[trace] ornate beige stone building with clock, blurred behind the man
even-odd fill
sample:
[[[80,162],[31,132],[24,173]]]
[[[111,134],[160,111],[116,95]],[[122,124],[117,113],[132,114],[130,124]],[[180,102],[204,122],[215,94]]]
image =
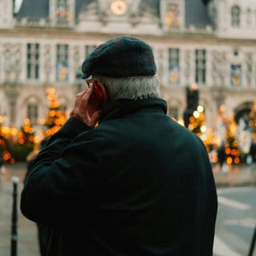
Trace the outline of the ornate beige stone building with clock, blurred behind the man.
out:
[[[0,115],[36,124],[54,86],[68,112],[84,86],[81,64],[120,34],[153,47],[168,113],[182,119],[186,87],[197,84],[206,126],[218,107],[238,119],[256,96],[255,0],[0,1]]]

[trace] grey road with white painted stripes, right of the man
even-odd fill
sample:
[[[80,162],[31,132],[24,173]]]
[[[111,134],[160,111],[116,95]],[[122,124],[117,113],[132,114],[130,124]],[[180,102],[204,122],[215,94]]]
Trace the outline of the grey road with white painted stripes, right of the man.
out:
[[[214,256],[247,256],[256,224],[256,186],[226,186],[217,191]]]

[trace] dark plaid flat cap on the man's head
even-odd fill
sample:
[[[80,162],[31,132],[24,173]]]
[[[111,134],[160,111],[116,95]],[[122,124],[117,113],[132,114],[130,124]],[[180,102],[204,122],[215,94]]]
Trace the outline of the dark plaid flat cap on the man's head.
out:
[[[150,45],[130,36],[111,38],[95,48],[82,63],[82,78],[99,74],[111,78],[156,73]]]

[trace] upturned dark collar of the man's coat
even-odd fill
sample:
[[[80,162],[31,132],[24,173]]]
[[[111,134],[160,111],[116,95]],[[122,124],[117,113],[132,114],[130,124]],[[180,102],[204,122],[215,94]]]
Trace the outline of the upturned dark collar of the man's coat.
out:
[[[120,99],[114,103],[111,110],[104,115],[102,122],[114,118],[121,118],[127,114],[131,114],[141,109],[162,109],[164,114],[167,113],[166,101],[162,98],[146,98],[138,100]]]

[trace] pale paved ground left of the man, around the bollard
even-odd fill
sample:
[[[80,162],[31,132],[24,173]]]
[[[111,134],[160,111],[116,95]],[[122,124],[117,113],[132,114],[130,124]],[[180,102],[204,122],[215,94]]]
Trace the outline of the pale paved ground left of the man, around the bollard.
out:
[[[22,182],[26,171],[25,164],[6,166],[0,173],[0,255],[10,256],[11,213],[13,204],[12,177],[18,177],[18,203]],[[18,206],[18,256],[39,256],[37,229],[34,222],[27,220]]]

